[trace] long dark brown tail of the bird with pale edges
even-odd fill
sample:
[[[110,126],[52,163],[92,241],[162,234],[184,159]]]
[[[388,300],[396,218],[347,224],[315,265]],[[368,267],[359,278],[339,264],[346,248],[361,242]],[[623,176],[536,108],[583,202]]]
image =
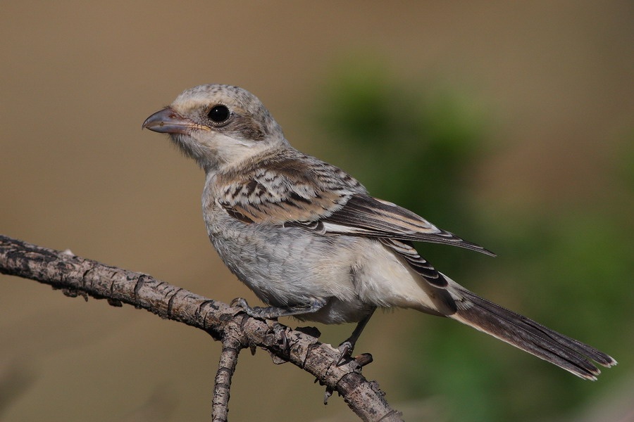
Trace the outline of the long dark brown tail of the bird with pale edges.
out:
[[[520,314],[504,309],[468,290],[461,290],[464,302],[450,317],[468,326],[493,335],[530,354],[560,366],[580,378],[595,381],[602,366],[616,365],[616,361],[594,347],[566,337]]]

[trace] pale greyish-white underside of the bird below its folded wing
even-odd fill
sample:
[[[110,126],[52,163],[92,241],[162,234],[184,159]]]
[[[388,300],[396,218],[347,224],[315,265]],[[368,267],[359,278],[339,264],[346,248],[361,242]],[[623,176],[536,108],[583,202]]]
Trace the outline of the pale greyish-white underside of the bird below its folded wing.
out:
[[[436,308],[428,284],[373,239],[244,224],[224,212],[208,213],[206,225],[223,262],[266,304],[325,300],[301,319],[338,324],[359,321],[375,307]]]

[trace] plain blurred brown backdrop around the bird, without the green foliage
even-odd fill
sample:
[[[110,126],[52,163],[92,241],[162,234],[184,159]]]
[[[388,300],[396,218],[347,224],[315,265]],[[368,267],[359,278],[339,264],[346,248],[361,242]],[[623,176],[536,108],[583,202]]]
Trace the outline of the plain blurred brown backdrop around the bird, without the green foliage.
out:
[[[471,87],[493,110],[499,147],[476,176],[490,212],[583,207],[608,187],[604,159],[622,146],[606,134],[634,117],[633,11],[629,1],[5,2],[0,232],[255,301],[206,238],[203,174],[141,123],[195,84],[237,84],[316,154],[314,98],[350,53],[380,57],[404,79]],[[209,418],[219,346],[204,333],[32,281],[0,283],[0,376],[17,395],[5,421]],[[376,361],[366,375],[400,408],[416,404],[399,404],[390,369],[406,364],[398,338],[418,317],[378,314],[359,343]],[[336,343],[352,326],[321,328]],[[632,373],[627,365],[619,371]],[[337,397],[324,408],[312,381],[244,353],[232,420],[348,416]]]

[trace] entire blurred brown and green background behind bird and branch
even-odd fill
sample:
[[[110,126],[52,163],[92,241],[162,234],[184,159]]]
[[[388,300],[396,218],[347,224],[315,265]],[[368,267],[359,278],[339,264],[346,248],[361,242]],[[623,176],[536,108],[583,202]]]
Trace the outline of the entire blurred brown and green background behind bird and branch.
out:
[[[295,147],[499,255],[418,245],[437,268],[620,362],[591,383],[379,312],[356,351],[406,420],[634,421],[633,43],[631,1],[5,2],[0,233],[256,303],[206,238],[201,170],[141,131],[184,89],[237,84]],[[0,420],[209,419],[209,335],[0,282]],[[231,392],[232,421],[355,420],[261,350]]]

